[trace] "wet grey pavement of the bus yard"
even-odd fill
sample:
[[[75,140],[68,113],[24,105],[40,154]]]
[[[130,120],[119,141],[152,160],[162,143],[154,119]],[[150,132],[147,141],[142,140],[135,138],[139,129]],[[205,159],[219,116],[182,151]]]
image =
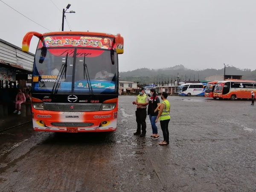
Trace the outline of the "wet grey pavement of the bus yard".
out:
[[[0,191],[256,191],[256,107],[169,96],[169,146],[136,131],[135,96],[119,97],[112,133],[0,133]],[[159,122],[160,139],[163,138]]]

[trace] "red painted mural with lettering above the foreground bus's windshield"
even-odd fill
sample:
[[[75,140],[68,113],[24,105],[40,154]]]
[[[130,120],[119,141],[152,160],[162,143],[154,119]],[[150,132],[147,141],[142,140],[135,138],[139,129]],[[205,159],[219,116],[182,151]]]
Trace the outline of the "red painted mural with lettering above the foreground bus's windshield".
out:
[[[87,36],[48,36],[44,37],[38,48],[41,47],[90,47],[110,49],[113,47],[113,38]]]

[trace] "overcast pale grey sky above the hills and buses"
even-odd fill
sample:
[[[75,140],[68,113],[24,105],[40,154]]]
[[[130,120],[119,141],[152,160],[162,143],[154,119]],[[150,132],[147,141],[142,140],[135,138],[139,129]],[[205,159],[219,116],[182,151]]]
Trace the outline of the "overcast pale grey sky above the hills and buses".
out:
[[[68,3],[76,11],[66,14],[72,31],[124,37],[120,71],[178,64],[221,69],[223,63],[256,69],[256,0],[0,0],[0,38],[21,47],[26,32],[61,30]],[[65,21],[64,30],[70,28]],[[37,43],[33,38],[30,52]]]

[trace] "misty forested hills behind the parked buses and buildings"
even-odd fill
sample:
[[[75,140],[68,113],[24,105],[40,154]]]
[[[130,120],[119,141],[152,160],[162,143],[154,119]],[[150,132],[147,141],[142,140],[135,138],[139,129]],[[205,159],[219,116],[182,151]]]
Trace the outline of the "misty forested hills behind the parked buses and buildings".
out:
[[[224,75],[223,69],[204,69],[204,70],[191,70],[185,68],[183,65],[175,65],[174,67],[167,67],[162,69],[148,69],[140,68],[127,72],[120,72],[120,81],[137,81],[140,83],[148,84],[159,81],[175,81],[179,73],[181,81],[204,81],[205,77],[212,75]],[[226,75],[240,75],[242,79],[256,80],[256,70],[239,69],[236,67],[226,67]]]

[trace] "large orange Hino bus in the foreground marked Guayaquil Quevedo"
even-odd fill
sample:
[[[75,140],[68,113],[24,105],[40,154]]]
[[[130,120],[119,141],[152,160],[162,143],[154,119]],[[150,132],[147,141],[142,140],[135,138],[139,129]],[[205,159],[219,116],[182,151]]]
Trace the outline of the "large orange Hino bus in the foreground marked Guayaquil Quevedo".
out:
[[[96,32],[28,32],[39,38],[32,72],[35,131],[115,131],[123,38]]]

